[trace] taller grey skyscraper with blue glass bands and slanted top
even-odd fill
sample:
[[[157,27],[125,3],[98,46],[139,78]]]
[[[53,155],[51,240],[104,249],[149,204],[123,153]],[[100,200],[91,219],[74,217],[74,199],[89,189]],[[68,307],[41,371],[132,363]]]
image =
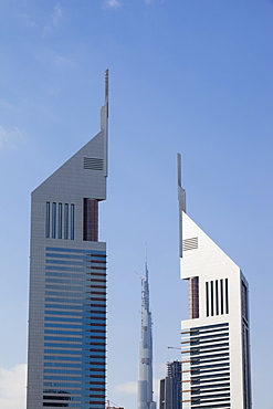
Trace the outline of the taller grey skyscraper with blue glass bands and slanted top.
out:
[[[28,409],[105,408],[108,72],[101,132],[31,198]]]

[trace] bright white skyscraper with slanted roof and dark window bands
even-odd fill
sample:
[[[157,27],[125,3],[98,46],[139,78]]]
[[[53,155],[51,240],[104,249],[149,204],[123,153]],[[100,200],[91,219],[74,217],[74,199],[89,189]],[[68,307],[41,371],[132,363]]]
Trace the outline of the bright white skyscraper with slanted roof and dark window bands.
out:
[[[249,285],[240,268],[188,217],[178,156],[182,321],[182,408],[250,409]]]

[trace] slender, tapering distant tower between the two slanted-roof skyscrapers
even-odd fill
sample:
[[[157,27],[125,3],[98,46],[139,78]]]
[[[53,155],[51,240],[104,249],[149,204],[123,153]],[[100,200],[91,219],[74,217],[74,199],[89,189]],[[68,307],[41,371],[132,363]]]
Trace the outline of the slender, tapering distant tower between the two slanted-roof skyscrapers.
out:
[[[141,279],[141,339],[139,343],[138,409],[156,409],[153,400],[153,335],[149,310],[149,281],[147,261],[145,277]]]

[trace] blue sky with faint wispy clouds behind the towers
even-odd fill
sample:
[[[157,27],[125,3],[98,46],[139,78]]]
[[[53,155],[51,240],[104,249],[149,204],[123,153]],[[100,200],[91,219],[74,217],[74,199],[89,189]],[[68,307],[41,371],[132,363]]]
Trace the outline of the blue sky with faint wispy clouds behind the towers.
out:
[[[136,408],[148,248],[155,390],[179,359],[176,155],[189,216],[251,290],[255,409],[272,409],[270,0],[0,0],[0,407],[23,409],[30,192],[99,129],[109,69],[108,399]]]

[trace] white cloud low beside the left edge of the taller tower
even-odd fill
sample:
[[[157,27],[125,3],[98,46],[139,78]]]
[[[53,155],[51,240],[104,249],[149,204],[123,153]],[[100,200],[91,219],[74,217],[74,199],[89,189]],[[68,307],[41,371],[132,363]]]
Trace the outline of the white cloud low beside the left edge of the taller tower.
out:
[[[12,369],[0,368],[0,408],[24,409],[27,396],[27,364]]]

